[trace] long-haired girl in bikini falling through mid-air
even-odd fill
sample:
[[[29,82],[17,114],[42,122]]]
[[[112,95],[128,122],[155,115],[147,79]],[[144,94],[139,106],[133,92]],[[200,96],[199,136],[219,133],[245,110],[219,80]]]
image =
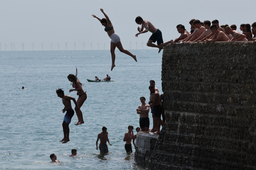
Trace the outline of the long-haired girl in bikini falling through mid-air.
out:
[[[76,95],[78,95],[78,99],[76,101],[77,106],[79,108],[82,107],[82,105],[84,104],[84,101],[87,99],[87,95],[86,92],[84,92],[83,88],[82,88],[82,83],[80,83],[80,81],[78,80],[77,76],[77,69],[76,69],[76,75],[74,74],[69,74],[68,75],[68,80],[70,82],[72,82],[72,87],[75,89],[70,89],[69,92],[71,91],[77,91]],[[76,110],[76,108],[75,108]],[[76,116],[78,118],[78,122],[75,125],[78,124],[83,124],[84,123],[84,119],[83,119],[83,114],[81,110],[76,111]]]

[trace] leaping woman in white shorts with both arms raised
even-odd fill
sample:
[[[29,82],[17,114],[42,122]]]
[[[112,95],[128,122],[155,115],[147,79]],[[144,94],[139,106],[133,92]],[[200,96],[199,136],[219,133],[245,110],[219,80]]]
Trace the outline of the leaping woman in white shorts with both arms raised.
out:
[[[108,36],[111,39],[111,43],[110,43],[110,52],[111,52],[111,58],[112,58],[112,66],[111,66],[111,71],[113,70],[113,68],[116,66],[115,65],[115,60],[116,60],[116,54],[115,54],[115,49],[116,47],[122,52],[125,53],[127,55],[130,55],[136,62],[136,55],[133,55],[132,53],[130,53],[128,50],[125,50],[121,44],[120,41],[120,37],[117,35],[117,33],[115,33],[114,31],[114,27],[110,21],[110,19],[108,18],[107,14],[105,14],[105,12],[103,11],[103,9],[100,8],[100,11],[104,14],[104,16],[106,18],[98,18],[95,15],[92,15],[92,17],[97,18],[101,25],[105,26],[105,31],[108,33]]]

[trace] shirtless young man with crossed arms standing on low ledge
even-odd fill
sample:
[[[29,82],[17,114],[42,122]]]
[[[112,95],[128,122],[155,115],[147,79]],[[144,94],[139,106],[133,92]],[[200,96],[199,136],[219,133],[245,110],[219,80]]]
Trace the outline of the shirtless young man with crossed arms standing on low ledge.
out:
[[[146,98],[140,97],[141,105],[136,109],[137,114],[140,114],[140,128],[141,131],[148,131],[149,129],[149,105],[145,103]]]

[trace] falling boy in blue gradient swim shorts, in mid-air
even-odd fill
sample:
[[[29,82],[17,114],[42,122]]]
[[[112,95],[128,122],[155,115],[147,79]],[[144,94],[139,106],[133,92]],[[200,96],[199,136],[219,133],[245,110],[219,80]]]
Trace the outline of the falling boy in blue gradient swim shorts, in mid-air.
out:
[[[71,106],[71,100],[73,100],[73,102],[76,105],[76,107],[75,107],[76,111],[80,111],[80,108],[77,106],[76,99],[74,97],[64,95],[64,91],[62,89],[56,90],[56,93],[57,93],[58,97],[62,98],[62,103],[65,106],[64,109],[62,109],[62,113],[65,113],[65,111],[67,111],[66,115],[64,116],[63,123],[62,123],[64,138],[60,140],[60,142],[65,144],[69,141],[68,125],[71,122],[71,118],[74,116],[74,110],[72,109],[72,106]]]

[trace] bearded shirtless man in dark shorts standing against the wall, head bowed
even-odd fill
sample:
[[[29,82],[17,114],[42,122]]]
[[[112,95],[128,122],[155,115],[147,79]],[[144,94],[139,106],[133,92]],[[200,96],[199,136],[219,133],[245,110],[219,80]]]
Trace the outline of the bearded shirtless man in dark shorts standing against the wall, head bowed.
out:
[[[154,133],[160,133],[160,126],[161,126],[161,114],[162,114],[162,105],[161,105],[161,98],[158,91],[155,90],[154,86],[148,87],[151,94],[153,94],[153,102],[150,104],[150,107],[154,110],[155,118],[156,118],[156,128],[157,131]]]

